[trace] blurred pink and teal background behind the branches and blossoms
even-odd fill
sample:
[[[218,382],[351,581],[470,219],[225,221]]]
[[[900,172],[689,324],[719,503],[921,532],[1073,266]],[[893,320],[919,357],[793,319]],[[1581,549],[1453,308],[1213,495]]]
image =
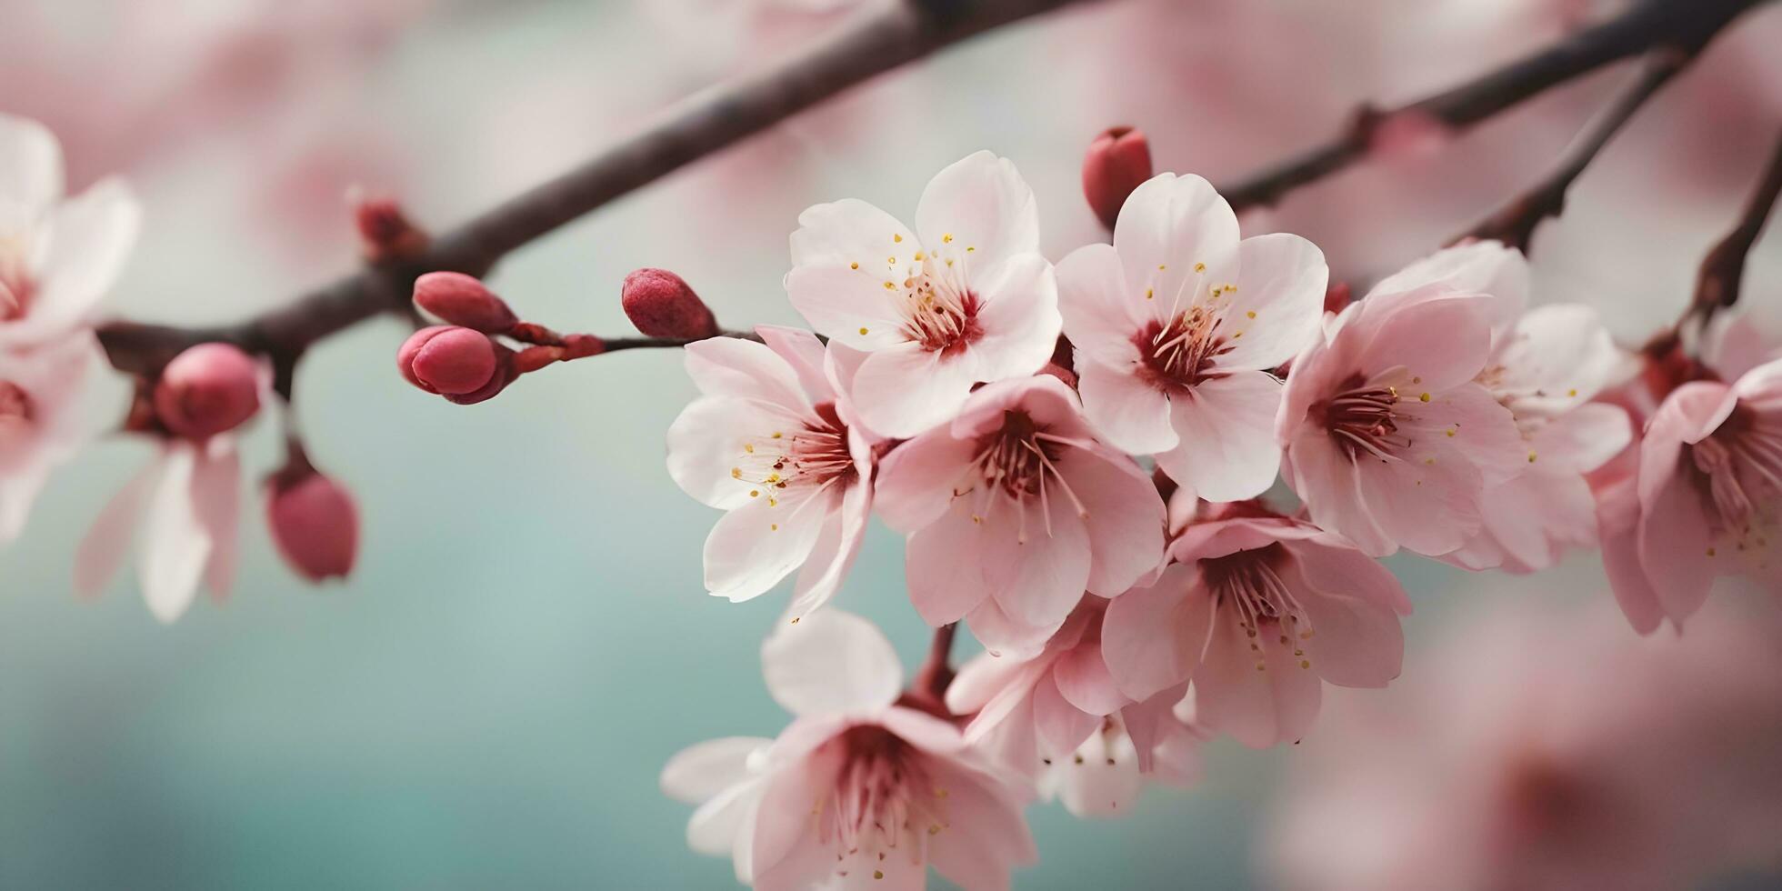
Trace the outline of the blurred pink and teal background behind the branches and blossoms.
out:
[[[144,235],[110,310],[228,321],[351,267],[353,185],[446,228],[866,5],[0,0],[0,110],[59,134],[73,187],[123,173],[139,189]],[[1358,102],[1452,86],[1618,7],[1091,4],[873,80],[490,282],[529,319],[622,333],[618,282],[661,266],[731,326],[795,324],[779,283],[811,203],[911,214],[934,171],[989,148],[1034,185],[1059,258],[1101,237],[1078,166],[1105,127],[1144,128],[1158,169],[1230,180],[1328,137]],[[1604,151],[1536,235],[1538,301],[1595,305],[1629,342],[1677,315],[1782,128],[1777,46],[1782,9],[1750,14]],[[1313,239],[1360,292],[1541,176],[1629,75],[1406,146],[1246,228]],[[1777,228],[1745,294],[1782,331]],[[757,647],[784,601],[700,586],[716,513],[663,467],[693,392],[679,356],[581,362],[458,408],[399,380],[403,335],[358,326],[298,376],[310,456],[364,511],[347,584],[290,576],[257,499],[230,602],[171,627],[130,577],[77,602],[75,544],[151,449],[112,437],[57,474],[0,554],[0,887],[734,886],[727,862],[686,850],[690,811],[656,777],[693,741],[781,729]],[[121,415],[121,381],[114,396]],[[255,474],[276,467],[271,419],[246,454]],[[1417,604],[1395,690],[1329,697],[1299,747],[1217,741],[1199,788],[1153,789],[1126,820],[1035,805],[1042,864],[1018,887],[1486,887],[1465,871],[1493,855],[1472,850],[1483,838],[1557,848],[1582,871],[1541,875],[1582,882],[1568,887],[1777,886],[1775,601],[1720,597],[1682,640],[1641,640],[1593,556],[1534,577],[1392,565]],[[875,527],[839,602],[914,665],[928,633],[902,572]],[[1586,764],[1600,770],[1581,779]],[[1593,798],[1629,777],[1664,793]],[[1655,823],[1629,829],[1632,813]],[[1591,862],[1641,870],[1611,882]]]

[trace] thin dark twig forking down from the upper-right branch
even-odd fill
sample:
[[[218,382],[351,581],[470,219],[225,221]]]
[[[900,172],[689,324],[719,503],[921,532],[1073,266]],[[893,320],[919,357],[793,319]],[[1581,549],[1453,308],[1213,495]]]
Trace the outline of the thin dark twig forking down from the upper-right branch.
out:
[[[1664,46],[1647,53],[1647,62],[1639,68],[1634,82],[1622,91],[1614,102],[1602,109],[1579,134],[1579,137],[1566,148],[1559,160],[1559,166],[1547,175],[1533,189],[1511,198],[1509,203],[1500,207],[1492,216],[1484,217],[1477,226],[1463,235],[1454,237],[1449,244],[1465,239],[1495,239],[1522,253],[1529,251],[1529,241],[1534,237],[1534,226],[1538,226],[1547,217],[1556,217],[1565,212],[1565,194],[1572,189],[1572,184],[1584,173],[1602,151],[1609,139],[1614,137],[1627,127],[1627,121],[1634,118],[1634,112],[1650,100],[1659,87],[1677,77],[1689,62],[1695,59],[1696,50],[1682,50],[1675,46]]]

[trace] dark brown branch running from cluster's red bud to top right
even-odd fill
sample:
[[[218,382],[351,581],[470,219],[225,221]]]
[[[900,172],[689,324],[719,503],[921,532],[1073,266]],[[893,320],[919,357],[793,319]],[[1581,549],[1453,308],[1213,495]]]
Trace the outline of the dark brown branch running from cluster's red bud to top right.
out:
[[[1627,12],[1509,62],[1472,82],[1395,109],[1363,107],[1333,141],[1219,189],[1233,208],[1272,205],[1288,191],[1367,157],[1374,132],[1395,116],[1465,130],[1604,64],[1643,52],[1705,45],[1741,12],[1768,0],[1639,0]]]

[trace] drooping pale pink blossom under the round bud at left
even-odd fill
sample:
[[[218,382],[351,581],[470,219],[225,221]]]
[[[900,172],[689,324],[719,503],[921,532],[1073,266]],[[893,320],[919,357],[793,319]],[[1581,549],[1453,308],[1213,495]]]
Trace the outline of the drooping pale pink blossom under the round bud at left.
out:
[[[235,577],[241,517],[241,454],[235,437],[169,438],[160,454],[100,511],[75,552],[75,593],[98,597],[130,544],[148,611],[175,622],[198,586],[216,601]]]

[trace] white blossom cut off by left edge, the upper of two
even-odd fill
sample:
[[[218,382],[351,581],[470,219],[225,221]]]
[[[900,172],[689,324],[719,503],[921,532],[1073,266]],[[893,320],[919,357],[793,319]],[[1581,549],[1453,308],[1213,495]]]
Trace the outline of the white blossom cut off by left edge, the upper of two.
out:
[[[139,208],[119,180],[64,198],[62,148],[43,125],[0,114],[0,346],[82,324],[135,242]]]

